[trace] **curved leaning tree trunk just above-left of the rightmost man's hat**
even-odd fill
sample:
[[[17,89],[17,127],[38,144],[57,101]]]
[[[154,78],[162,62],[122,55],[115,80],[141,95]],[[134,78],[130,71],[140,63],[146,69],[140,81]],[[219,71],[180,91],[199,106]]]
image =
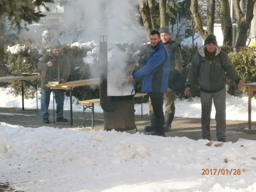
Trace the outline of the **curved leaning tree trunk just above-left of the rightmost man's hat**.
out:
[[[203,28],[203,22],[198,11],[198,0],[191,0],[190,11],[195,19],[195,29],[205,40],[208,36],[208,31]]]

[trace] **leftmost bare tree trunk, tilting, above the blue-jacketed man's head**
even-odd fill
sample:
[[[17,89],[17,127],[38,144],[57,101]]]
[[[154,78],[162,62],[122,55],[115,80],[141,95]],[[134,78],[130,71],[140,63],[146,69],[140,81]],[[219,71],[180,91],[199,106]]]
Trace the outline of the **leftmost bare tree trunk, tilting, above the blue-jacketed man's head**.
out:
[[[144,28],[147,34],[147,39],[149,41],[149,33],[152,31],[152,23],[148,14],[147,5],[145,0],[140,0],[140,14],[143,20]]]

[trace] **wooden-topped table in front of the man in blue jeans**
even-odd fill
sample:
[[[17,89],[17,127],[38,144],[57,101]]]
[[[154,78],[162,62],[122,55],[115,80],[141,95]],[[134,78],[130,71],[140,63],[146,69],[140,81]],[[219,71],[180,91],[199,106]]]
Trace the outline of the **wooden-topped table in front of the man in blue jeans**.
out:
[[[100,84],[100,79],[86,79],[80,81],[70,81],[67,83],[59,84],[58,82],[49,82],[46,84],[46,87],[50,87],[50,89],[62,89],[62,90],[70,90],[69,97],[70,97],[70,125],[73,125],[73,112],[72,112],[72,87],[79,87],[85,85],[95,85]],[[55,124],[55,114],[54,114],[54,93],[53,93],[53,124]]]

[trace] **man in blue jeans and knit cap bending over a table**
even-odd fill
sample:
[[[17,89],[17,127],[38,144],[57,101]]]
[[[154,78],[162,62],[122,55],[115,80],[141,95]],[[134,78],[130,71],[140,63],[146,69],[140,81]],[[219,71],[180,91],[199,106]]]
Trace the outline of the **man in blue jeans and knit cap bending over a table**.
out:
[[[58,70],[58,63],[60,68],[60,74]],[[66,55],[62,53],[61,44],[58,39],[54,39],[51,44],[50,52],[44,54],[37,64],[38,69],[42,70],[41,79],[41,115],[43,117],[43,123],[50,123],[49,121],[49,103],[52,90],[46,87],[49,81],[56,81],[56,77],[60,76],[60,83],[66,83],[70,74],[69,61]],[[63,105],[64,105],[64,91],[54,89],[55,101],[56,101],[56,121],[67,122],[68,119],[63,117]]]

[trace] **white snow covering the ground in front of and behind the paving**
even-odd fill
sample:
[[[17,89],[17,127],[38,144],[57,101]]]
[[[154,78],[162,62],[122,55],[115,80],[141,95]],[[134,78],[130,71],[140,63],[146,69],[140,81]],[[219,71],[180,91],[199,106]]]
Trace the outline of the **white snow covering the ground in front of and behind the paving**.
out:
[[[21,107],[21,97],[8,95],[8,89],[0,88],[0,98],[0,107]],[[254,121],[255,104],[252,100]],[[140,107],[135,106],[136,114]],[[25,108],[36,108],[36,100],[25,100]],[[148,113],[147,103],[143,108]],[[73,110],[82,108],[73,104]],[[100,107],[96,110],[101,111]],[[247,120],[247,110],[247,97],[227,95],[227,119]],[[175,116],[200,117],[200,98],[177,100]],[[256,192],[254,140],[206,146],[209,141],[185,137],[24,128],[6,124],[4,119],[0,122],[0,182],[9,182],[17,190]]]

